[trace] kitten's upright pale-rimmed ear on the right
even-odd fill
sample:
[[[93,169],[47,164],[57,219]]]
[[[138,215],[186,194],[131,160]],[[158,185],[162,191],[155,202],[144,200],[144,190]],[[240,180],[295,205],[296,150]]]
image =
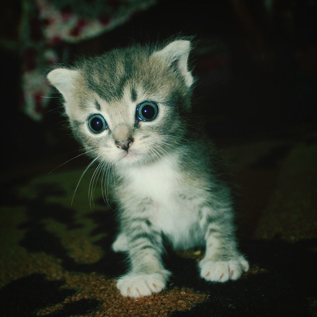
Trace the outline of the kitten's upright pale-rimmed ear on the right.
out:
[[[187,60],[191,50],[191,42],[186,40],[176,40],[171,42],[164,49],[153,53],[154,56],[160,56],[168,61],[169,65],[175,64],[176,70],[185,80],[187,87],[193,83],[193,76],[187,68]]]

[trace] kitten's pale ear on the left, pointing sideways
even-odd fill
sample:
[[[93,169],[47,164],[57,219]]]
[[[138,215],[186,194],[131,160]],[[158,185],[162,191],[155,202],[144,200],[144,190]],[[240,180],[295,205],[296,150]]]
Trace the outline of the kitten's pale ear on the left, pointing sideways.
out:
[[[74,83],[78,75],[77,70],[56,68],[49,72],[47,79],[67,100],[72,95]]]

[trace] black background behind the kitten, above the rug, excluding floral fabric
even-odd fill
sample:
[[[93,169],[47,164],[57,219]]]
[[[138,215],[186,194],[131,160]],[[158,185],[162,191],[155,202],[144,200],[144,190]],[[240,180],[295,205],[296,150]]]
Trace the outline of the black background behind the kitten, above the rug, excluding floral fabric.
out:
[[[78,55],[101,54],[132,41],[194,35],[191,62],[198,78],[194,116],[203,116],[216,144],[234,143],[237,138],[314,138],[316,1],[274,1],[270,13],[261,1],[234,3],[158,1],[102,36],[79,44],[60,43],[56,49],[62,52],[67,46],[71,63]],[[78,146],[64,128],[58,98],[52,99],[41,122],[23,113],[17,39],[20,2],[6,3],[3,12],[2,38],[16,39],[17,45],[1,47],[2,167],[41,165],[63,154],[56,160],[62,163]],[[79,161],[72,164],[82,164]]]

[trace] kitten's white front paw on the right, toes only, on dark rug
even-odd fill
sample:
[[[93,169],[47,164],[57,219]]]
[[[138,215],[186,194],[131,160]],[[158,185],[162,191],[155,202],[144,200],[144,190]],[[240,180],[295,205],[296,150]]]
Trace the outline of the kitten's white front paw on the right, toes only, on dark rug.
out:
[[[249,270],[249,263],[241,256],[238,260],[211,261],[203,260],[199,263],[200,276],[206,281],[226,282],[237,280],[242,272]]]

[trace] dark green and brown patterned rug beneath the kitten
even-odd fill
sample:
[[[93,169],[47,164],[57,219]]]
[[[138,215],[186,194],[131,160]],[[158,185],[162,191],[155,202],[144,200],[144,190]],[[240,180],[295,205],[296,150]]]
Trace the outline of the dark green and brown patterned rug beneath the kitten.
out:
[[[89,205],[94,168],[73,199],[85,164],[48,174],[60,160],[52,159],[3,172],[1,315],[316,316],[316,139],[222,148],[239,185],[237,233],[250,262],[240,280],[207,283],[197,271],[204,250],[169,251],[173,275],[163,292],[122,297],[115,278],[125,257],[110,249],[114,212],[98,186]]]

